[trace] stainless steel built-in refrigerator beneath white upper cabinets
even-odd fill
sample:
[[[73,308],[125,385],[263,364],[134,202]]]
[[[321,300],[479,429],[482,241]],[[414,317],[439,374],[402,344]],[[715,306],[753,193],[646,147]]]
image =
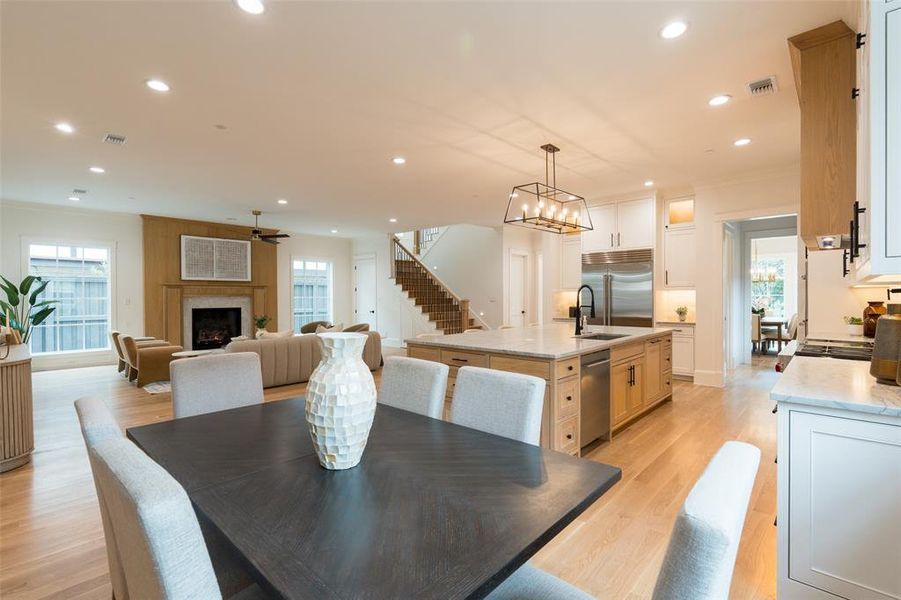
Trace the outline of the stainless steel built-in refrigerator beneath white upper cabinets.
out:
[[[583,254],[582,283],[594,292],[595,318],[589,324],[653,327],[653,250]],[[581,300],[588,303],[587,292]]]

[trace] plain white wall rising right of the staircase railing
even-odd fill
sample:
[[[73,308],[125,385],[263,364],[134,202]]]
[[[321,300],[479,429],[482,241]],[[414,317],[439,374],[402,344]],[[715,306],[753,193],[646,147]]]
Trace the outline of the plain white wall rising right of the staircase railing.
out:
[[[502,246],[500,228],[451,225],[422,259],[491,328],[503,323]]]

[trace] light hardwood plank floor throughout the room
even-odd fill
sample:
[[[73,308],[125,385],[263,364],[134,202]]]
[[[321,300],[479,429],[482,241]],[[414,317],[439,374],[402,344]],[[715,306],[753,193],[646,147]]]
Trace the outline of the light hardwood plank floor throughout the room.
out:
[[[756,357],[725,389],[677,382],[674,400],[588,458],[619,466],[623,479],[545,547],[534,562],[605,599],[650,598],[685,495],[726,440],[758,446],[731,598],[775,598],[776,417],[768,390],[774,358]],[[266,399],[304,386],[267,391]],[[171,418],[168,394],[128,385],[113,367],[36,373],[33,462],[0,476],[0,596],[108,600],[103,530],[72,402],[107,400],[123,428]]]

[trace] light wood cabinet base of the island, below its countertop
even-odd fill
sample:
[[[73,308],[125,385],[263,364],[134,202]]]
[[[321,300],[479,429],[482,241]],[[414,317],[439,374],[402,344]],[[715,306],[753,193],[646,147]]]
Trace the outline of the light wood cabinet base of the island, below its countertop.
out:
[[[546,326],[561,327],[560,325]],[[569,325],[563,326],[568,330]],[[523,331],[528,331],[524,329]],[[486,335],[495,332],[485,332]],[[449,415],[457,371],[473,366],[522,373],[547,382],[542,413],[541,446],[579,456],[581,440],[580,355],[604,347],[611,349],[610,423],[615,431],[672,395],[672,335],[669,331],[615,340],[605,346],[585,347],[563,358],[521,356],[486,348],[475,350],[482,334],[466,334],[467,349],[442,347],[441,338],[407,340],[407,356],[441,362],[450,367],[445,396]],[[507,333],[507,335],[513,335]],[[571,335],[571,333],[569,334]],[[457,338],[457,336],[448,336]],[[528,340],[527,340],[528,341]],[[617,343],[619,342],[619,343]],[[576,340],[572,340],[575,345]]]

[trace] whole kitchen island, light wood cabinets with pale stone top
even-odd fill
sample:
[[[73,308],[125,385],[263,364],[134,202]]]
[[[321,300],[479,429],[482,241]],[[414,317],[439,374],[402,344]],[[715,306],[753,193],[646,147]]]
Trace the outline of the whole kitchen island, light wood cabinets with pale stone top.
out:
[[[457,369],[464,366],[524,373],[546,380],[541,445],[574,456],[580,454],[583,446],[582,356],[604,351],[610,355],[609,384],[605,384],[609,386],[609,427],[603,436],[606,439],[672,398],[672,335],[667,328],[589,326],[581,337],[576,337],[572,323],[553,323],[422,337],[406,343],[408,356],[450,366],[448,403]]]

